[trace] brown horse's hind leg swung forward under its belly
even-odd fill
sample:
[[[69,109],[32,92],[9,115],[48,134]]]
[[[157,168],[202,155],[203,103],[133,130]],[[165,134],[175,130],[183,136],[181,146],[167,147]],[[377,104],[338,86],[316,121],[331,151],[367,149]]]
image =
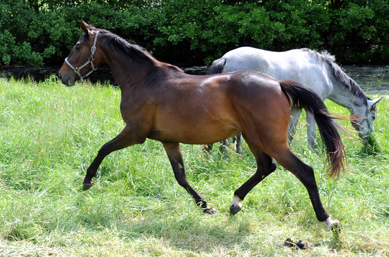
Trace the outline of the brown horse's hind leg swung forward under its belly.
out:
[[[250,145],[249,148],[255,156],[257,171],[248,179],[248,181],[246,181],[234,192],[234,198],[232,199],[232,203],[230,205],[230,214],[232,215],[240,211],[242,208],[240,202],[243,201],[248,192],[277,168],[276,163],[269,155],[251,147]]]

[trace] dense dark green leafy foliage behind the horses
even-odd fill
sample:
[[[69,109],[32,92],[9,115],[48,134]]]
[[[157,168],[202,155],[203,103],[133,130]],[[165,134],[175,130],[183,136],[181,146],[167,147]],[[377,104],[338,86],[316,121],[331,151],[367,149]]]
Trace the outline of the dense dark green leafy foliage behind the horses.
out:
[[[80,19],[176,64],[208,64],[240,46],[389,61],[388,0],[2,0],[0,14],[1,64],[62,62]]]

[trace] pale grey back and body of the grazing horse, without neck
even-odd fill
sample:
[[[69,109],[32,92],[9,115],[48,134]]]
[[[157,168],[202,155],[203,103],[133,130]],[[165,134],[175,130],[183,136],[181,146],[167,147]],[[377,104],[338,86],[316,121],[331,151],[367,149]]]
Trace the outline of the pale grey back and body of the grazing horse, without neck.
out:
[[[333,90],[332,68],[310,51],[283,52],[242,47],[226,53],[223,72],[255,70],[278,80],[299,81],[325,99]]]

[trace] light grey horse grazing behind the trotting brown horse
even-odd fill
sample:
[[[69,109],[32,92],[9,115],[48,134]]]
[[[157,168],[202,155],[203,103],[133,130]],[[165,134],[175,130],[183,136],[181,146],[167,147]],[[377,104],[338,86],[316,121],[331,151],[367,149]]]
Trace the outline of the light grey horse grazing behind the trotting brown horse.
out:
[[[367,138],[374,131],[376,103],[383,97],[371,100],[356,82],[335,63],[335,57],[327,51],[318,53],[310,49],[295,49],[273,52],[252,47],[241,47],[227,52],[213,61],[209,74],[227,73],[238,70],[256,70],[278,80],[299,81],[315,91],[324,101],[326,98],[347,108],[352,116],[352,124],[361,138]],[[289,123],[291,141],[301,111],[292,108]],[[307,113],[307,134],[309,147],[316,142],[316,122]],[[237,137],[237,151],[242,154],[240,135]],[[223,144],[227,144],[223,142]]]

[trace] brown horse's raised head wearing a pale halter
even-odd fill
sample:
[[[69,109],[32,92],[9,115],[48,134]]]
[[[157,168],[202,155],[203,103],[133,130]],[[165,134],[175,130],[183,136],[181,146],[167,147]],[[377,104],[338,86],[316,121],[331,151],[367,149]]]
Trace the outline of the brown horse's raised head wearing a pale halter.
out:
[[[85,77],[97,69],[103,59],[103,51],[96,46],[99,32],[83,20],[80,22],[80,27],[84,34],[77,41],[58,73],[59,79],[67,86],[74,86],[77,80],[84,81]]]

